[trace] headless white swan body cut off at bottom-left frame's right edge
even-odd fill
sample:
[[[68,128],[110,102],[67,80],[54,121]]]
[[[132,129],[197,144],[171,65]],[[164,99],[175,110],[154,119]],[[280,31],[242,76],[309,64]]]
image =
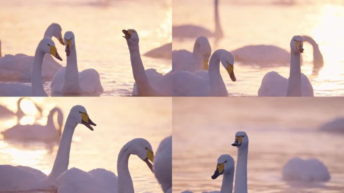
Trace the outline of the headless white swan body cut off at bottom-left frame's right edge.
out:
[[[163,192],[172,188],[172,136],[163,139],[154,157],[154,175]]]

